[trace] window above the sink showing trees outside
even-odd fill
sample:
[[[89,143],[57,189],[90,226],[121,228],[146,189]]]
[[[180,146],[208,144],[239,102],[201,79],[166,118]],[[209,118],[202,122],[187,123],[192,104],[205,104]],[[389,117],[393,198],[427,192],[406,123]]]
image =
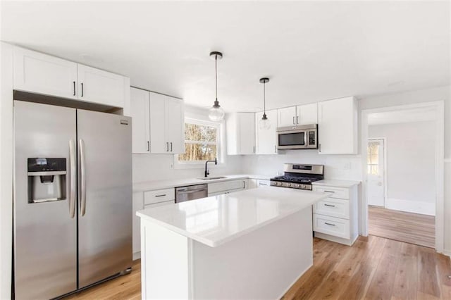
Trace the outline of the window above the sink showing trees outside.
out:
[[[185,119],[185,154],[178,163],[200,163],[218,157],[219,124],[204,120]]]

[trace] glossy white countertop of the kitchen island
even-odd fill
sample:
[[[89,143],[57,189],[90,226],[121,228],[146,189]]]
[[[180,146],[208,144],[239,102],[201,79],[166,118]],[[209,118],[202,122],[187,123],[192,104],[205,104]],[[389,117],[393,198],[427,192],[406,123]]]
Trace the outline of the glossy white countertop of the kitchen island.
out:
[[[326,193],[260,187],[137,211],[143,220],[216,247],[328,198]]]

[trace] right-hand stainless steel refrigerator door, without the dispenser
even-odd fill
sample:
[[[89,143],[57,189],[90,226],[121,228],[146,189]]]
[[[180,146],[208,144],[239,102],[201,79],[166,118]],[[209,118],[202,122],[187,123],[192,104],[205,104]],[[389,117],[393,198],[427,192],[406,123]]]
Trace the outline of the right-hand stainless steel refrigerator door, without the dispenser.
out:
[[[132,265],[131,118],[78,110],[79,288]]]

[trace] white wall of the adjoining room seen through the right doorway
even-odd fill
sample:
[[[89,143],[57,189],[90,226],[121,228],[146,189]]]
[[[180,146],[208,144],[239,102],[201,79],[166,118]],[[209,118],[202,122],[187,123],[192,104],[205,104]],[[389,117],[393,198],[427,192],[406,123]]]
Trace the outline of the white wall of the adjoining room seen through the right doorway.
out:
[[[385,137],[385,207],[435,215],[435,122],[371,125],[369,137]]]

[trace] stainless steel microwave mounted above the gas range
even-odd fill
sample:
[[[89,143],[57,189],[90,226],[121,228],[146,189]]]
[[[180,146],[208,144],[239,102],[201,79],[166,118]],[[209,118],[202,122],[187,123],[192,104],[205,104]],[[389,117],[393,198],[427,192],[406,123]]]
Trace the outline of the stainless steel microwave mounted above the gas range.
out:
[[[318,125],[277,128],[278,149],[318,149]]]

